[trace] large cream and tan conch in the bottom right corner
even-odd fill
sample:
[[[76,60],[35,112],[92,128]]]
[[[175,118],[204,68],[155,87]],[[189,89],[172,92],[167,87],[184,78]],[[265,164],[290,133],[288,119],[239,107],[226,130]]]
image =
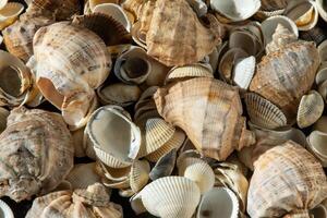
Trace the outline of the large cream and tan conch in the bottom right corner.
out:
[[[247,192],[247,213],[253,218],[287,214],[308,217],[308,209],[326,196],[327,179],[322,165],[306,149],[288,141],[255,161]]]

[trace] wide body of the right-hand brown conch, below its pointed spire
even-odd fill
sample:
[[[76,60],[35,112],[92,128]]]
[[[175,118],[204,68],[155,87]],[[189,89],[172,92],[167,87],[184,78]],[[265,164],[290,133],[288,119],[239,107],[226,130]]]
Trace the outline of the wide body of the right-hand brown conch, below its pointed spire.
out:
[[[318,66],[319,56],[314,43],[286,45],[258,63],[250,90],[275,104],[292,122],[301,97],[314,83]]]

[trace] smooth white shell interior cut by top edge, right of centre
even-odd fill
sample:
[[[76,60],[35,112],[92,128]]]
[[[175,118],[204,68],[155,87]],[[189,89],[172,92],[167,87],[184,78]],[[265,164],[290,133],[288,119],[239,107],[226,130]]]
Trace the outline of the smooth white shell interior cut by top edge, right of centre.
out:
[[[244,21],[251,17],[259,10],[261,5],[262,5],[261,1],[258,0],[246,0],[246,1],[210,0],[211,9],[219,12],[231,22]]]

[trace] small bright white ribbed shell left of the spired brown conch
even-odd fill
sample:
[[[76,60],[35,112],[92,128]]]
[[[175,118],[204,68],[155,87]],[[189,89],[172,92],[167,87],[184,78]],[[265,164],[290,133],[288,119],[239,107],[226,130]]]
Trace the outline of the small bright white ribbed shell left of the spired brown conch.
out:
[[[242,89],[247,89],[255,72],[255,57],[240,60],[233,68],[233,82]]]

